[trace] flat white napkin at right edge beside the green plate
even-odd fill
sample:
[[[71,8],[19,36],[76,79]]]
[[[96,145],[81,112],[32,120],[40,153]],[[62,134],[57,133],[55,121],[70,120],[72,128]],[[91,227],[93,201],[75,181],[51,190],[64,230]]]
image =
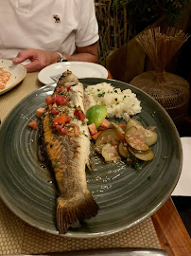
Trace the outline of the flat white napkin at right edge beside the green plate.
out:
[[[181,137],[182,174],[171,195],[191,196],[191,137]]]

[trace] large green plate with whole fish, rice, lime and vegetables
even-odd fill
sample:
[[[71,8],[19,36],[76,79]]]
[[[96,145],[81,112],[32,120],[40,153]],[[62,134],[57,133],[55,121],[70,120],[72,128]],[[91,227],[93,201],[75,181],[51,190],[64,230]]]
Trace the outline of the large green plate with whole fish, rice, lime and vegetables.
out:
[[[1,197],[52,234],[128,229],[163,206],[182,171],[172,119],[125,82],[67,71],[20,101],[0,129]]]

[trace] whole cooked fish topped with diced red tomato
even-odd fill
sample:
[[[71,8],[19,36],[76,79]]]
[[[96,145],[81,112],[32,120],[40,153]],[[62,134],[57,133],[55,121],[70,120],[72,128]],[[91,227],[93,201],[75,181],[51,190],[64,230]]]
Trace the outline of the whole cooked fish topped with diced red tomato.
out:
[[[45,101],[42,142],[58,185],[57,227],[60,233],[66,233],[98,211],[87,189],[85,174],[86,165],[91,169],[91,145],[83,108],[83,85],[72,72],[66,71],[53,95]]]

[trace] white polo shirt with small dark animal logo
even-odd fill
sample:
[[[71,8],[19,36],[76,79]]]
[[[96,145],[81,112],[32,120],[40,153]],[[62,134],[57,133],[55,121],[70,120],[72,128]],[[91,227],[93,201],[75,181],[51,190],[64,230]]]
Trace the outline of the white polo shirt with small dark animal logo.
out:
[[[0,0],[0,58],[26,48],[72,55],[98,40],[94,0]]]

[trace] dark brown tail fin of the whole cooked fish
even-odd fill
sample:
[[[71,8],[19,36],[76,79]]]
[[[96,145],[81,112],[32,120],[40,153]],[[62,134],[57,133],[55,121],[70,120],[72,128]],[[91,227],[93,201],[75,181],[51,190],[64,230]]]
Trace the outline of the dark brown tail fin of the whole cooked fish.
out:
[[[57,228],[60,234],[69,228],[78,228],[80,221],[95,217],[99,207],[91,192],[88,190],[81,198],[67,200],[63,197],[57,199]]]

